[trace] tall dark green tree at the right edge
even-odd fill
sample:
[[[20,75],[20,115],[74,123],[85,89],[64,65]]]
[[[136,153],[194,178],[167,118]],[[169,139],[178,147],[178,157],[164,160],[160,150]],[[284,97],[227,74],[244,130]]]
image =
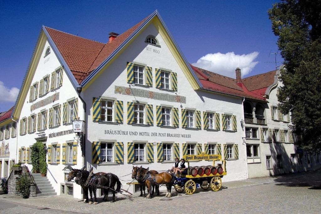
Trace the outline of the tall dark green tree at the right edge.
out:
[[[268,11],[285,67],[279,107],[299,146],[321,150],[321,0],[282,0]]]

